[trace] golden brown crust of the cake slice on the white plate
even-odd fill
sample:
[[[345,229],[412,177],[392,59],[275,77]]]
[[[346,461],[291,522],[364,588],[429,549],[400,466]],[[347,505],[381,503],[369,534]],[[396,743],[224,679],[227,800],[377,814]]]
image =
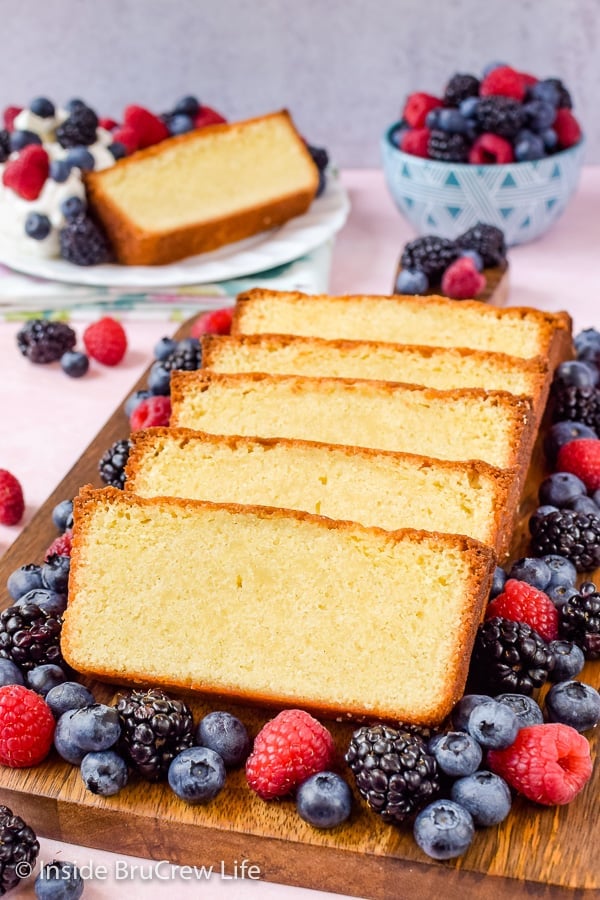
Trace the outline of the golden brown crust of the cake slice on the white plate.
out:
[[[277,116],[286,118],[290,129],[293,129],[293,133],[296,134],[301,152],[313,165],[313,184],[308,189],[296,191],[281,197],[276,202],[246,209],[234,215],[173,228],[163,233],[140,229],[135,222],[127,218],[123,210],[104,190],[104,180],[108,177],[105,173],[113,172],[116,166],[122,171],[127,171],[137,166],[140,161],[158,157],[165,150],[170,152],[171,148],[178,145],[207,140],[215,134],[218,135],[236,128],[241,129],[244,125]],[[315,197],[319,184],[318,171],[312,163],[312,158],[304,142],[295,131],[287,110],[271,113],[268,116],[257,116],[244,122],[207,125],[197,131],[169,138],[167,141],[147,147],[145,150],[138,150],[131,156],[119,160],[116,166],[98,172],[84,173],[84,180],[90,207],[110,238],[117,262],[128,266],[165,265],[188,256],[215,250],[225,244],[243,240],[260,231],[282,225],[289,219],[306,212]]]

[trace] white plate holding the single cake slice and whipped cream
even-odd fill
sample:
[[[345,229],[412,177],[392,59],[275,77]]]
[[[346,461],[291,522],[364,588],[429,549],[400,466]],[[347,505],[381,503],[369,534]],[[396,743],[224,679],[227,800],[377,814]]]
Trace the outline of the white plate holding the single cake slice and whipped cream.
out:
[[[308,212],[271,231],[211,253],[190,256],[168,266],[75,266],[64,259],[39,259],[19,254],[0,241],[0,263],[51,281],[102,287],[168,287],[208,284],[264,272],[298,259],[324,244],[342,228],[350,211],[350,201],[339,177],[328,175],[324,193],[313,201]]]

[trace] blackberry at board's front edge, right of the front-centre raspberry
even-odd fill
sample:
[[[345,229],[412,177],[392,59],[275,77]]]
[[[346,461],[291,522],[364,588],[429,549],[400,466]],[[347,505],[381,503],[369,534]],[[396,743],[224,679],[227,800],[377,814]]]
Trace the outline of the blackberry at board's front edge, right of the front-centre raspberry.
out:
[[[425,741],[401,728],[359,728],[350,740],[346,762],[361,797],[384,822],[403,822],[440,788],[438,766]]]

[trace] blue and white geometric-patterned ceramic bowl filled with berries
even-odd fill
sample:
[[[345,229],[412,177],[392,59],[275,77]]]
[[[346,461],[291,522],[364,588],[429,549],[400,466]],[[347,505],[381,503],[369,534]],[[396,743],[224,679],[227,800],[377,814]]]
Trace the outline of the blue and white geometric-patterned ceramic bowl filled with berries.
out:
[[[418,234],[455,238],[477,222],[501,228],[506,242],[524,244],[544,234],[564,212],[577,183],[584,141],[533,162],[477,166],[403,153],[383,136],[388,189]]]

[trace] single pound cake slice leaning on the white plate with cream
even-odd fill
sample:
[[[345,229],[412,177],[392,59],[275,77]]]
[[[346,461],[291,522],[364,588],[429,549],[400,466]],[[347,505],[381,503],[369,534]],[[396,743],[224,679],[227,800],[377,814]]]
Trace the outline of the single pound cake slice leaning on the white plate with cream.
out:
[[[319,173],[284,110],[211,125],[85,176],[117,261],[162,265],[281,225],[308,209]]]

